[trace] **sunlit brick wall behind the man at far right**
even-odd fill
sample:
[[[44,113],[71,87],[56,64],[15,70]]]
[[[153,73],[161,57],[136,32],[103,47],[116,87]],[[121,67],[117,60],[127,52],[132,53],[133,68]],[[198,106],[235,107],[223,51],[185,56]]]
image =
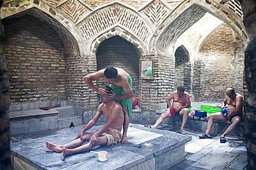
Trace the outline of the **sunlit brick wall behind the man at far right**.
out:
[[[203,41],[199,61],[203,62],[204,67],[195,66],[194,74],[201,72],[200,88],[203,90],[199,96],[197,94],[199,98],[196,100],[221,100],[227,87],[234,87],[239,94],[243,94],[243,45],[226,23]],[[197,65],[196,61],[194,65]]]

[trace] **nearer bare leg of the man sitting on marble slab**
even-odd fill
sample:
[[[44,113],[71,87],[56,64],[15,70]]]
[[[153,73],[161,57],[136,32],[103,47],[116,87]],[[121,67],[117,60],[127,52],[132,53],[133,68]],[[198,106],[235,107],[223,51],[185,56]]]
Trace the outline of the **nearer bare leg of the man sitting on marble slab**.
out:
[[[106,145],[106,144],[107,144],[106,136],[100,136],[100,137],[97,138],[96,145]],[[82,145],[80,147],[76,147],[76,148],[73,148],[73,149],[64,148],[63,151],[62,151],[62,154],[63,154],[63,156],[67,156],[67,155],[71,155],[71,154],[74,154],[74,153],[80,153],[80,152],[83,152],[83,151],[90,151],[92,149],[93,149],[93,147],[91,145],[91,142],[88,142],[85,145]]]

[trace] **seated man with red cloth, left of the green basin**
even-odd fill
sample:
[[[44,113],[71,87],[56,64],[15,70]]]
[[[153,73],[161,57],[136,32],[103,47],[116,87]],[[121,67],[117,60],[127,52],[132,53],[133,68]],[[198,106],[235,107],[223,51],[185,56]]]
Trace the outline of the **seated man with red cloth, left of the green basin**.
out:
[[[172,105],[170,100],[173,100]],[[156,120],[156,123],[153,126],[149,126],[150,128],[156,129],[158,125],[160,125],[163,120],[167,117],[174,116],[174,114],[183,115],[182,125],[181,125],[181,134],[185,134],[185,124],[188,120],[188,107],[190,107],[190,95],[188,92],[185,92],[185,88],[183,86],[177,87],[177,90],[172,92],[170,96],[166,99],[167,104],[169,105],[170,109],[168,109],[164,114]]]

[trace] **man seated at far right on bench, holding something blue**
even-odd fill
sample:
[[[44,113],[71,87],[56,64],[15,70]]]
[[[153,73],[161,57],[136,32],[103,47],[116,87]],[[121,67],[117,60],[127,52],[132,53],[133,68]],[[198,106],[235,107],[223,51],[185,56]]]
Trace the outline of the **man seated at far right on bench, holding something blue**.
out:
[[[205,134],[199,136],[199,138],[212,138],[210,136],[210,131],[212,129],[214,120],[229,120],[231,122],[231,125],[228,127],[228,129],[226,129],[226,131],[221,135],[220,138],[221,143],[226,142],[225,136],[229,134],[230,131],[235,128],[235,125],[237,125],[241,120],[241,114],[243,111],[243,96],[241,96],[241,94],[237,94],[235,92],[235,89],[226,89],[226,98],[224,98],[221,105],[222,109],[224,107],[226,107],[228,113],[226,115],[222,113],[211,114],[209,116],[206,132]]]

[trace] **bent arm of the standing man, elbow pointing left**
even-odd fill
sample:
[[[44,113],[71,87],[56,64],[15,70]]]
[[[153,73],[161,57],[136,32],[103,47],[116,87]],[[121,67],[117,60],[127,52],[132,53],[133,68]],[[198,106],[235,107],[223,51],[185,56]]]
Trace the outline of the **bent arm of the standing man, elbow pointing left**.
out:
[[[95,87],[95,85],[93,84],[93,81],[98,81],[98,79],[103,77],[104,77],[104,69],[99,70],[98,72],[88,74],[87,76],[84,76],[82,79],[90,89],[92,89],[94,92],[98,94],[101,94],[102,92],[100,91],[100,89]]]

